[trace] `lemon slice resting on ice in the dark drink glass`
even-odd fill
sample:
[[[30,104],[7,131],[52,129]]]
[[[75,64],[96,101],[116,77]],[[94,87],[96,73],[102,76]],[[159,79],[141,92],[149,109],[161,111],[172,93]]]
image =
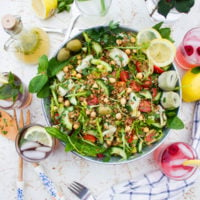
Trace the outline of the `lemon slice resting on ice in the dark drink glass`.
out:
[[[25,132],[24,139],[38,142],[45,146],[52,146],[53,140],[51,136],[46,132],[45,128],[41,126],[32,126],[28,128]]]

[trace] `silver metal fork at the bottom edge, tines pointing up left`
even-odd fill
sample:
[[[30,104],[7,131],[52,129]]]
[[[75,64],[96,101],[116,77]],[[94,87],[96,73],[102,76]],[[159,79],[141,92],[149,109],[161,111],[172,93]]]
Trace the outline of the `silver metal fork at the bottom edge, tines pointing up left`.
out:
[[[84,185],[74,181],[68,189],[81,200],[95,200],[90,190]]]

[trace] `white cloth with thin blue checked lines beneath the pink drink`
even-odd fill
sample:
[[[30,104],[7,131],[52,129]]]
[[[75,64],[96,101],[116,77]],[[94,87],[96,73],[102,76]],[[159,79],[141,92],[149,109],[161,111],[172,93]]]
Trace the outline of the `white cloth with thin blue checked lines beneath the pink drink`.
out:
[[[200,156],[200,101],[196,103],[192,131],[192,146]],[[174,181],[161,171],[149,172],[111,187],[98,196],[97,200],[177,200],[183,192],[194,184],[199,170],[184,181]]]

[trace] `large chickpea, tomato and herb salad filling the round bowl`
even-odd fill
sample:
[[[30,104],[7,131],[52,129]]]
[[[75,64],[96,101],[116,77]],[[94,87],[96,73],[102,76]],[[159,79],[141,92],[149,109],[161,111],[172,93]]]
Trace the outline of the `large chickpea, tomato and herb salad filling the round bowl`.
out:
[[[70,40],[48,61],[40,58],[29,91],[50,99],[47,132],[65,150],[109,161],[127,160],[181,129],[178,76],[171,64],[149,62],[149,42],[110,23]]]

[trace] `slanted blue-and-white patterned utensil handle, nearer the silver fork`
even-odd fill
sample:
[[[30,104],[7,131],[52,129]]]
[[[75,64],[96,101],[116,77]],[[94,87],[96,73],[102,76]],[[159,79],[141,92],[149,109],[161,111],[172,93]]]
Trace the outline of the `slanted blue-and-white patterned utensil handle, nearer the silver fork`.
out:
[[[64,196],[57,191],[52,180],[47,176],[47,174],[44,172],[43,168],[40,165],[36,164],[34,166],[34,170],[39,176],[47,191],[49,192],[52,200],[65,200]]]

